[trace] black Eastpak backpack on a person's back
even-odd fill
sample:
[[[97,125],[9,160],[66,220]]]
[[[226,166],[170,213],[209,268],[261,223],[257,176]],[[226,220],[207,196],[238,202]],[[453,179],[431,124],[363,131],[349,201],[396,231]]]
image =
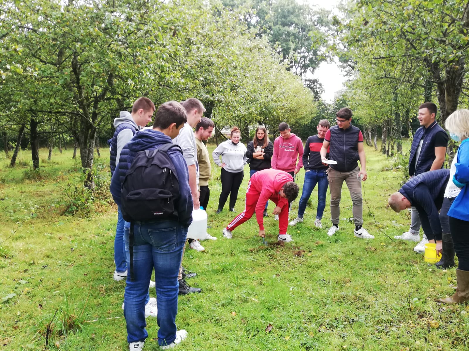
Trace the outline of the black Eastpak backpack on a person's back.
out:
[[[173,199],[179,197],[179,180],[167,152],[181,147],[172,143],[137,153],[121,189],[122,217],[128,222],[177,218]]]

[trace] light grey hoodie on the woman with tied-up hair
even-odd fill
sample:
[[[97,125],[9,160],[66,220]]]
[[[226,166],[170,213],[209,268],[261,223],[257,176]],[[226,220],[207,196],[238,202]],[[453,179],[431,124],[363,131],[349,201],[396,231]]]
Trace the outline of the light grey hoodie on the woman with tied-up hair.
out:
[[[222,142],[215,150],[212,152],[213,161],[220,166],[222,163],[227,165],[224,169],[228,172],[236,173],[241,172],[244,168],[244,165],[248,163],[248,158],[246,157],[246,146],[242,143],[236,145],[233,144],[231,140]],[[221,155],[221,161],[220,156]]]

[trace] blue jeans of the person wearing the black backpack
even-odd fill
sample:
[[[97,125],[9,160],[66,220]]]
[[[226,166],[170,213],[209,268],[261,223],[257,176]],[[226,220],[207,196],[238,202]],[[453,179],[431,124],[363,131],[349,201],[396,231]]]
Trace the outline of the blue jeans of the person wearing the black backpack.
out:
[[[124,229],[127,266],[130,267],[129,233]],[[158,316],[158,344],[171,344],[176,338],[176,314],[182,249],[187,228],[174,220],[136,222],[134,226],[134,280],[127,278],[124,293],[124,317],[127,341],[136,343],[148,337],[145,329],[145,300],[151,273],[155,270]]]

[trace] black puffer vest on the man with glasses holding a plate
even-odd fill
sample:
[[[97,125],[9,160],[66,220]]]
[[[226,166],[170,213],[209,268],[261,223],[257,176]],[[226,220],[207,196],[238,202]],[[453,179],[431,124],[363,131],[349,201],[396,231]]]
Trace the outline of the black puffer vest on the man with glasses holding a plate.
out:
[[[358,156],[358,134],[360,129],[350,124],[347,129],[341,129],[334,125],[331,131],[331,145],[329,149],[329,159],[337,161],[331,168],[339,172],[350,172],[354,170],[360,159]]]

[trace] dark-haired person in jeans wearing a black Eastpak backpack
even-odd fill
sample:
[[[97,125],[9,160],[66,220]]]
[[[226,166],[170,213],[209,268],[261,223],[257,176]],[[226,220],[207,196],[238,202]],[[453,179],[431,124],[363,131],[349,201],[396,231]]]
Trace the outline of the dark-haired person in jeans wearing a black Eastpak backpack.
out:
[[[177,330],[178,272],[187,230],[192,222],[189,173],[179,146],[172,143],[187,121],[178,102],[159,106],[153,129],[137,132],[121,152],[111,193],[130,222],[124,229],[130,278],[124,293],[124,317],[131,351],[141,351],[145,298],[155,271],[158,344],[171,348],[187,336]]]

